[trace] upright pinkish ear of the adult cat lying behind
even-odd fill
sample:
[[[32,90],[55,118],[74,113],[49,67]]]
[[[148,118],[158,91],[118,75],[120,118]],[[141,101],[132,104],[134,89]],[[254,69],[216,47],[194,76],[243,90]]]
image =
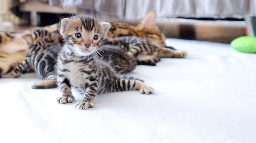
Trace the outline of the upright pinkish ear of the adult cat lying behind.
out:
[[[142,20],[141,24],[144,25],[144,27],[149,28],[156,25],[156,11],[151,10]]]

